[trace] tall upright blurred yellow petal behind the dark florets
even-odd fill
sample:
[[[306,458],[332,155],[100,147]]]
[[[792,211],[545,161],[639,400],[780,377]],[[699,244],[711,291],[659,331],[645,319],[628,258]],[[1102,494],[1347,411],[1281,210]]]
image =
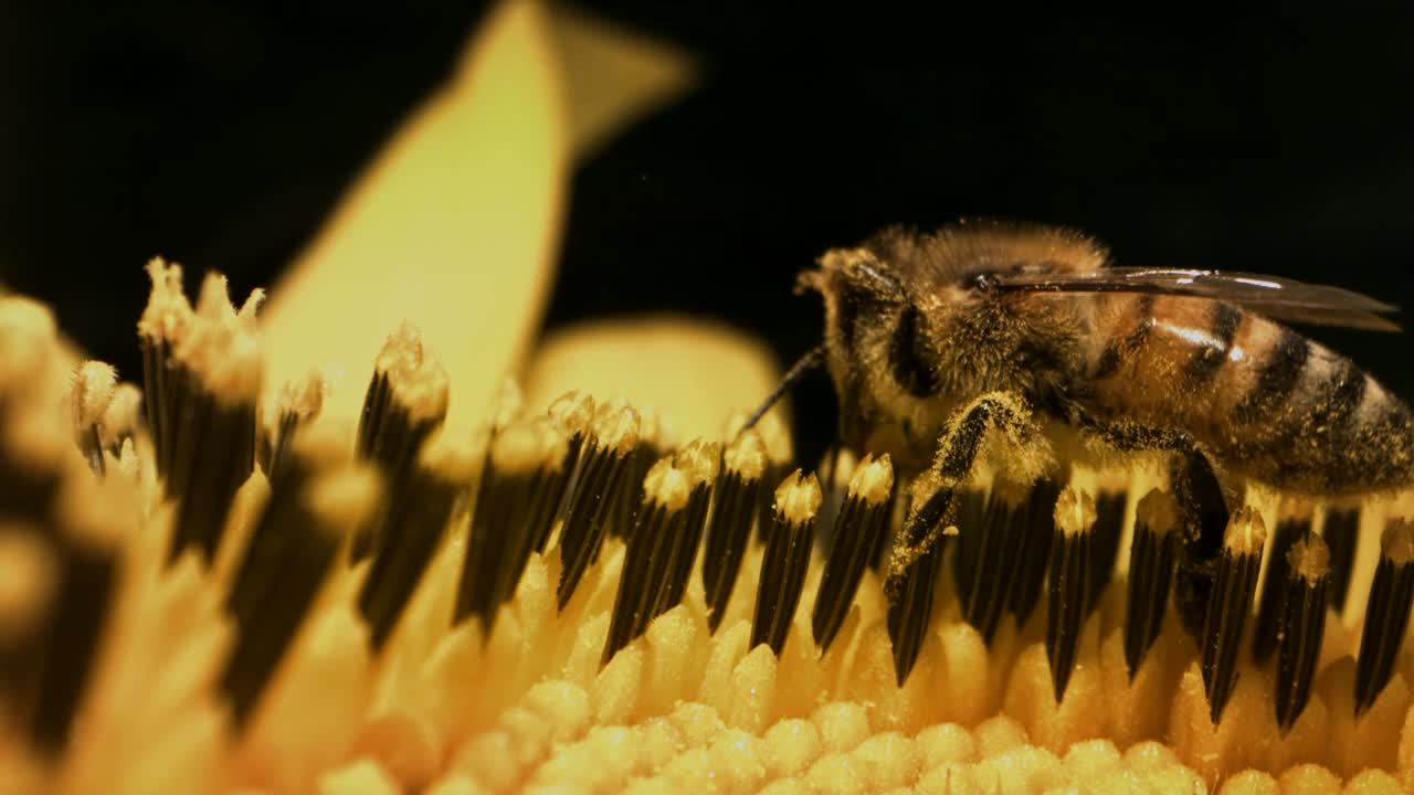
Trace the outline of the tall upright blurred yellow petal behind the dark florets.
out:
[[[399,130],[264,315],[267,383],[311,362],[352,416],[383,338],[417,324],[478,413],[536,327],[566,199],[568,122],[540,3],[505,0],[452,81]]]

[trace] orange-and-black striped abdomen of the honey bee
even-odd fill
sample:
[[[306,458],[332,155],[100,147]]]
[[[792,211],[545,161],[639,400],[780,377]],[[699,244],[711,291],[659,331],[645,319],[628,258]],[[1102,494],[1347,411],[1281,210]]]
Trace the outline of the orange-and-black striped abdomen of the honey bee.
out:
[[[1410,412],[1349,359],[1217,301],[1114,296],[1096,317],[1090,406],[1179,427],[1226,470],[1342,495],[1414,484]]]

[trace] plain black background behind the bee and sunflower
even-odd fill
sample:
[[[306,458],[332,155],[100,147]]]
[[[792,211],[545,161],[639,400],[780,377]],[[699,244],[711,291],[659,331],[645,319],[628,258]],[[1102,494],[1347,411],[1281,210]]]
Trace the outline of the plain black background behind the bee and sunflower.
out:
[[[0,6],[0,280],[136,375],[154,253],[269,284],[454,62],[477,4],[75,14]],[[595,7],[704,65],[574,181],[551,325],[669,310],[819,335],[824,248],[962,215],[1066,224],[1124,265],[1268,272],[1414,307],[1414,11],[922,17]],[[1411,324],[1407,317],[1406,324]],[[1403,335],[1312,332],[1414,396]],[[803,396],[812,441],[827,389]]]

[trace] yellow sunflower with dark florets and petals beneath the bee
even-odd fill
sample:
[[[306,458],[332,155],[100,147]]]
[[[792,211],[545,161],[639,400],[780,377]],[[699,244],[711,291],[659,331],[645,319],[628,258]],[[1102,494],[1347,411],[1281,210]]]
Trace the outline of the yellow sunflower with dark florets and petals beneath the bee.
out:
[[[209,274],[191,303],[148,265],[141,389],[0,297],[0,791],[1414,788],[1414,532],[1379,508],[1363,638],[1326,621],[1338,550],[1258,494],[1229,610],[1188,634],[1164,591],[1135,655],[1130,583],[1174,536],[1141,464],[1024,521],[976,504],[990,530],[939,576],[942,540],[888,555],[888,457],[810,472],[781,409],[742,430],[779,379],[758,341],[680,317],[537,340],[570,164],[689,75],[506,0],[269,301]],[[1022,523],[1055,533],[1018,560],[1032,593],[983,598],[960,574]],[[1113,581],[1068,567],[1102,525],[1140,550]],[[1258,591],[1285,608],[1249,629],[1281,628],[1263,665],[1232,651]],[[936,605],[901,668],[912,594]]]

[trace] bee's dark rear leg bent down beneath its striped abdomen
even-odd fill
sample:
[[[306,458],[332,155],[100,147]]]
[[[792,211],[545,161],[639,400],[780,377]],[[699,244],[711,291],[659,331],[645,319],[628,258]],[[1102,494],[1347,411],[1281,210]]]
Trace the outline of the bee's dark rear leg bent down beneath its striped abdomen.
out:
[[[1188,528],[1174,577],[1174,604],[1184,628],[1198,638],[1212,597],[1229,511],[1208,455],[1191,436],[1169,429],[1083,423],[1106,443],[1124,451],[1171,451],[1174,491]]]

